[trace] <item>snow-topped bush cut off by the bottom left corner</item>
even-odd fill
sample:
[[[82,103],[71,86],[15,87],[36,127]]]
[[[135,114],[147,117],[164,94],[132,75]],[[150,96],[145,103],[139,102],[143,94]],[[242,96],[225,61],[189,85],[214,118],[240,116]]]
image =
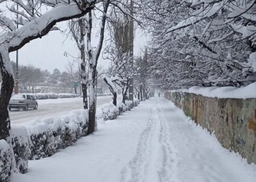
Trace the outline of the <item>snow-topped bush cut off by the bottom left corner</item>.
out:
[[[0,140],[0,181],[7,182],[11,174],[13,151],[6,140]]]

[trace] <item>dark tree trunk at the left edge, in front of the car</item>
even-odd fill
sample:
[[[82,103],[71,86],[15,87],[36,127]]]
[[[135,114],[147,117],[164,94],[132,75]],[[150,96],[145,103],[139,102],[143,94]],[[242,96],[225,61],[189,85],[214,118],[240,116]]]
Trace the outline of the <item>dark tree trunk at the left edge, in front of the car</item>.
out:
[[[8,57],[6,57],[8,56]],[[5,59],[5,60],[4,60]],[[8,62],[8,63],[7,63]],[[9,63],[9,53],[5,53],[5,56],[0,54],[0,69],[2,75],[2,86],[1,86],[1,94],[0,94],[0,139],[7,139],[10,136],[9,130],[11,128],[8,104],[11,98],[11,94],[13,93],[14,88],[14,78],[11,71],[6,68],[10,66]],[[5,64],[4,64],[5,63]]]

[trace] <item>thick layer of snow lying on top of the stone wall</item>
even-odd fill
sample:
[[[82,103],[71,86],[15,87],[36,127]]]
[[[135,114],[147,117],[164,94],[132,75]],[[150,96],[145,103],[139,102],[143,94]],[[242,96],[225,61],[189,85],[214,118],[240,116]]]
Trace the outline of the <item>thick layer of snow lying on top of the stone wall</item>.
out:
[[[240,88],[234,86],[224,87],[200,87],[192,86],[189,89],[180,90],[186,93],[200,94],[205,97],[217,97],[217,98],[256,98],[256,82],[253,84],[242,86]]]

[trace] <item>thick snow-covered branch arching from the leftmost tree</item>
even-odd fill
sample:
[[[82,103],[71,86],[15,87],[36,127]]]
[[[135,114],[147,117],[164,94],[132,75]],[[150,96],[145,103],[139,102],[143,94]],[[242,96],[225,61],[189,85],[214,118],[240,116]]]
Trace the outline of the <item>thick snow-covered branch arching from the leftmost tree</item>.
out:
[[[0,44],[13,52],[31,40],[46,35],[57,22],[79,18],[93,9],[96,1],[60,2],[42,16],[35,18],[15,31],[6,32],[0,38]]]

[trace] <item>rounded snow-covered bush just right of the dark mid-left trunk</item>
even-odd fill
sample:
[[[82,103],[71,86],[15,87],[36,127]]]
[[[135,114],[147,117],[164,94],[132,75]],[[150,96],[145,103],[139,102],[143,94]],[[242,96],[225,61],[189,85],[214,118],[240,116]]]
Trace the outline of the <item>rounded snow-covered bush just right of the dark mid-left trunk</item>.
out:
[[[112,103],[105,104],[104,106],[102,106],[101,110],[104,121],[108,119],[115,119],[119,115],[118,107],[113,105]]]

